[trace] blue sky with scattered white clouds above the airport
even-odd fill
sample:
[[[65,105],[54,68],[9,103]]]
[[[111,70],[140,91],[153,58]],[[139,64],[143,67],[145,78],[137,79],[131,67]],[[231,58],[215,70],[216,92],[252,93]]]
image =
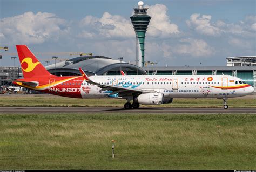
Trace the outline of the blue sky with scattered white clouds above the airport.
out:
[[[26,44],[33,52],[92,52],[134,63],[136,39],[129,17],[137,3],[0,0],[0,46],[8,46],[8,53],[16,52],[15,45]],[[200,62],[224,66],[226,57],[255,56],[255,3],[144,1],[152,16],[145,40],[146,61],[157,61],[159,66],[199,66]],[[11,66],[10,55],[1,51],[0,65]],[[42,62],[51,58],[37,57]]]

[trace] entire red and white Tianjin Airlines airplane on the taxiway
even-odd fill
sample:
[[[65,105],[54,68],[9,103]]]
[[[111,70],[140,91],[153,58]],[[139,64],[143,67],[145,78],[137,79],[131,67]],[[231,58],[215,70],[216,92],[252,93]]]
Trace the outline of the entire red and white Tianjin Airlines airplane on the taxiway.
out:
[[[242,97],[254,88],[240,78],[230,75],[122,75],[90,76],[79,68],[82,76],[58,77],[50,74],[26,45],[16,45],[23,79],[14,80],[17,86],[70,98],[125,99],[125,109],[137,109],[140,104],[159,105],[173,98]],[[132,104],[131,104],[131,101]]]

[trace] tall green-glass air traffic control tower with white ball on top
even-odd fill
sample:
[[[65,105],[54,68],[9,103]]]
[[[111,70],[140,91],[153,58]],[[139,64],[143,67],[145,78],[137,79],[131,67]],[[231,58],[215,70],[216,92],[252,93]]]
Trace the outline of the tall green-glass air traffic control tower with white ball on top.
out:
[[[134,15],[130,17],[136,34],[136,65],[139,67],[144,66],[145,35],[151,19],[143,4],[142,1],[138,2],[138,8],[134,8]]]

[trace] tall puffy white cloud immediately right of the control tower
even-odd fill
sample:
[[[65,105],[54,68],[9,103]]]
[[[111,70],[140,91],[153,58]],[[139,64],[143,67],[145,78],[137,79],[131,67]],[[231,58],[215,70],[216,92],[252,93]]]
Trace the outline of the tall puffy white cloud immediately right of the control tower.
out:
[[[147,6],[147,14],[151,16],[147,34],[153,37],[166,37],[180,33],[178,26],[170,22],[168,8],[163,4]]]

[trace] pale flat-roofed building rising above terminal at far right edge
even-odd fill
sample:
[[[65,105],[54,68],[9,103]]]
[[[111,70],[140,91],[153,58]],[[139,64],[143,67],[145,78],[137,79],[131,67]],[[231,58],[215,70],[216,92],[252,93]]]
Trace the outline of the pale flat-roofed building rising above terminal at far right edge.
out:
[[[256,66],[256,56],[227,57],[227,66]]]

